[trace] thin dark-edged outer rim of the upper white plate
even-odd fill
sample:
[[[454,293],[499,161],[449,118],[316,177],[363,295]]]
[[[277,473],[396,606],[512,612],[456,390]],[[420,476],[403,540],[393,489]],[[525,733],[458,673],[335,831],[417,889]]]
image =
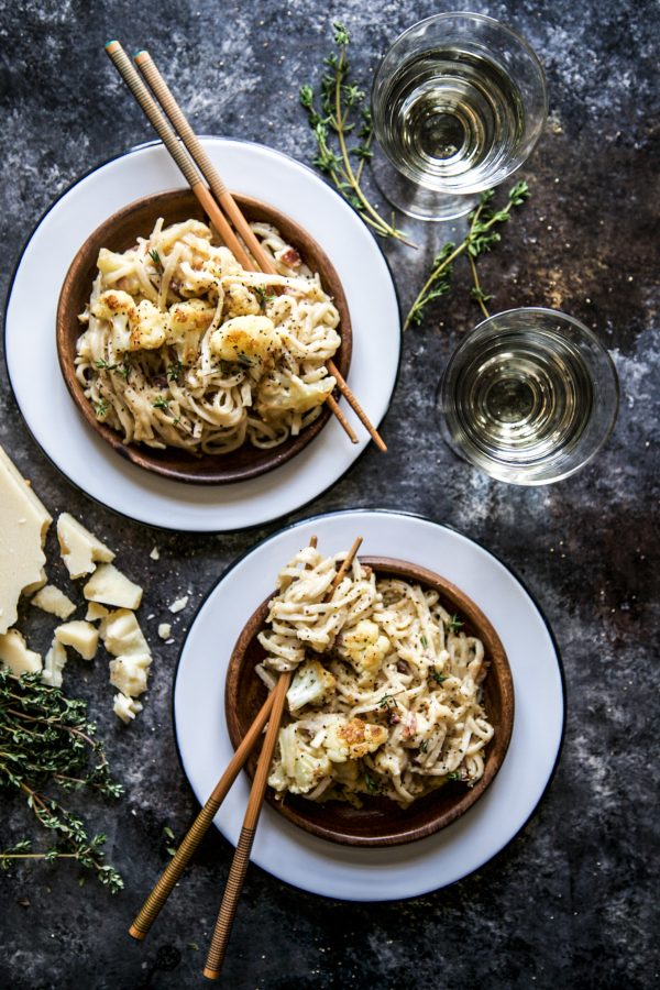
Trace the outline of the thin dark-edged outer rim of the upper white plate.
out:
[[[294,158],[292,155],[287,154],[286,152],[279,151],[279,148],[271,147],[271,145],[263,144],[260,141],[251,141],[249,139],[243,139],[243,138],[231,138],[231,136],[226,136],[226,135],[221,135],[221,134],[199,134],[198,136],[202,142],[205,140],[227,141],[227,142],[231,142],[233,144],[249,145],[249,146],[254,146],[256,148],[265,148],[267,152],[271,152],[272,154],[277,155],[277,156],[284,158],[285,161],[290,162],[294,165],[297,165],[300,168],[304,168],[306,172],[310,173],[310,175],[312,175],[315,177],[315,179],[322,183],[323,186],[327,189],[329,189],[333,196],[336,196],[339,200],[341,200],[341,202],[346,205],[348,208],[352,210],[352,208],[350,207],[350,204],[346,204],[346,200],[343,198],[343,196],[341,196],[341,194],[337,189],[334,189],[328,182],[326,182],[326,179],[321,175],[319,175],[319,173],[316,169],[314,169],[310,165],[307,165],[305,162],[300,162],[300,161],[298,161],[298,158]],[[16,398],[16,392],[15,392],[15,388],[14,388],[14,385],[13,385],[13,382],[11,378],[11,373],[9,370],[8,349],[7,349],[7,317],[8,317],[8,312],[9,312],[9,304],[11,301],[14,283],[15,283],[16,276],[19,274],[21,264],[23,262],[23,257],[24,257],[25,252],[28,251],[28,248],[30,246],[34,235],[36,234],[37,230],[40,229],[40,227],[42,226],[44,220],[50,216],[50,213],[55,209],[55,207],[61,202],[61,200],[64,199],[64,197],[67,196],[69,193],[72,193],[77,186],[79,186],[80,183],[82,183],[86,178],[88,178],[89,176],[94,175],[97,172],[100,172],[101,168],[106,167],[107,165],[111,165],[113,162],[117,162],[121,158],[128,158],[129,156],[131,156],[131,155],[135,154],[136,152],[140,152],[144,148],[157,147],[157,146],[163,147],[163,142],[157,138],[150,140],[150,141],[143,141],[140,144],[132,144],[130,147],[124,148],[123,151],[117,152],[116,154],[110,155],[107,158],[103,158],[102,161],[97,162],[95,165],[90,166],[86,172],[81,173],[76,178],[74,178],[72,183],[69,183],[61,193],[57,194],[55,199],[53,199],[48,204],[48,206],[43,210],[43,212],[41,213],[41,216],[34,223],[34,226],[31,228],[29,234],[23,240],[23,243],[19,251],[15,264],[11,272],[11,277],[8,282],[7,293],[4,295],[4,300],[3,300],[4,305],[3,305],[3,310],[2,310],[2,331],[1,331],[2,360],[3,360],[3,365],[4,365],[4,373],[6,373],[9,388],[11,392],[11,397],[12,397],[15,408],[19,411],[19,416],[21,418],[22,425],[23,425],[24,429],[28,431],[28,436],[34,443],[35,448],[40,451],[41,455],[46,459],[46,461],[55,469],[55,471],[57,471],[57,473],[62,477],[65,479],[67,484],[72,485],[77,492],[80,492],[82,495],[85,495],[85,497],[91,499],[91,502],[94,502],[96,505],[101,506],[103,509],[112,513],[114,516],[118,516],[120,519],[128,519],[131,522],[138,522],[141,526],[146,526],[146,527],[148,527],[148,529],[153,529],[156,531],[165,531],[165,532],[189,532],[189,534],[199,534],[199,535],[205,535],[205,534],[215,535],[215,534],[222,534],[222,532],[228,532],[228,531],[246,532],[252,529],[263,529],[264,526],[272,526],[274,524],[279,522],[285,517],[290,516],[292,514],[302,512],[309,505],[311,505],[311,503],[315,502],[317,498],[322,498],[323,495],[326,495],[336,484],[339,484],[339,482],[348,474],[348,472],[351,471],[362,460],[362,458],[364,457],[366,451],[370,449],[371,439],[367,440],[367,442],[364,444],[363,449],[356,454],[354,460],[352,460],[346,465],[345,470],[342,471],[342,473],[338,477],[334,477],[323,488],[321,488],[319,492],[317,492],[315,495],[312,495],[306,502],[300,503],[300,505],[296,506],[295,508],[284,509],[283,512],[278,513],[277,515],[275,515],[268,519],[262,519],[261,521],[248,522],[248,524],[240,525],[240,526],[232,526],[231,530],[219,529],[218,526],[209,526],[209,524],[207,524],[207,522],[204,522],[204,524],[196,522],[195,528],[188,527],[188,528],[185,528],[182,530],[182,528],[179,526],[176,526],[175,524],[165,526],[165,525],[162,525],[158,522],[152,522],[152,521],[148,521],[145,519],[136,519],[134,516],[129,515],[129,513],[122,512],[121,509],[116,508],[112,505],[109,505],[107,502],[101,501],[96,495],[90,494],[78,482],[76,482],[72,477],[69,477],[69,475],[59,466],[59,464],[57,464],[55,462],[55,460],[51,457],[51,454],[46,450],[44,450],[42,444],[36,439],[32,428],[30,427],[30,425],[23,414],[21,405]],[[352,210],[352,212],[355,216],[355,219],[360,220],[355,210]],[[389,409],[392,407],[392,403],[394,399],[394,395],[398,387],[398,382],[399,382],[399,377],[400,377],[403,352],[404,352],[403,332],[400,330],[400,327],[403,324],[403,308],[402,308],[400,290],[396,284],[396,279],[394,277],[392,263],[389,262],[389,258],[387,257],[383,248],[381,246],[378,239],[376,238],[374,232],[370,229],[369,224],[362,222],[362,227],[371,237],[374,245],[376,246],[376,249],[378,251],[378,254],[381,255],[381,257],[383,258],[383,261],[385,263],[385,267],[387,270],[387,273],[389,275],[389,280],[391,280],[393,289],[394,289],[394,297],[396,300],[396,309],[397,309],[397,317],[398,317],[398,323],[399,323],[398,354],[397,354],[397,361],[396,361],[396,370],[394,373],[394,384],[392,387],[392,392],[389,393],[389,396],[387,398],[387,403],[386,403],[385,409],[383,411],[383,415],[382,415],[381,419],[378,420],[378,422],[374,424],[374,426],[376,428],[378,428],[381,426],[381,424],[383,422],[383,420],[385,419],[385,417],[389,413]],[[314,443],[314,441],[312,441],[312,443]],[[212,488],[213,486],[209,485],[208,487]],[[285,528],[285,527],[282,527],[282,528]],[[206,597],[204,601],[206,601]]]

